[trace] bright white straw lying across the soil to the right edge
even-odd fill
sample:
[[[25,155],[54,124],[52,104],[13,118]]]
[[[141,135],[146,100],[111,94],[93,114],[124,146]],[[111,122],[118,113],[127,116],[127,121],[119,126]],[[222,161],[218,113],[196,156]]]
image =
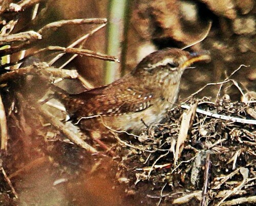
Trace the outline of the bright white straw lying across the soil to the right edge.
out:
[[[181,108],[189,109],[190,106],[188,106],[188,105],[181,105]],[[201,109],[197,109],[196,112],[200,113],[200,114],[204,114],[204,115],[210,116],[210,117],[215,117],[215,118],[218,118],[218,119],[234,121],[234,122],[240,122],[240,123],[243,123],[243,124],[256,124],[256,120],[253,120],[253,119],[242,119],[242,118],[238,118],[238,117],[230,117],[230,116],[226,116],[226,115],[221,115],[221,114],[216,114],[216,113],[208,112],[208,111],[201,110]]]

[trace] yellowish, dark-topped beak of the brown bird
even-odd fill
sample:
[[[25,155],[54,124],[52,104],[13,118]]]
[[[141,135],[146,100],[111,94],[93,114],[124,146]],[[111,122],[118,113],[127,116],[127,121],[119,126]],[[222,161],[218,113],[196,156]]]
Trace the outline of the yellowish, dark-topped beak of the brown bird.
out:
[[[185,61],[183,63],[182,68],[189,67],[191,64],[193,64],[195,62],[200,62],[200,61],[209,62],[210,60],[211,60],[210,59],[210,51],[208,51],[208,50],[189,53],[189,58],[187,61]]]

